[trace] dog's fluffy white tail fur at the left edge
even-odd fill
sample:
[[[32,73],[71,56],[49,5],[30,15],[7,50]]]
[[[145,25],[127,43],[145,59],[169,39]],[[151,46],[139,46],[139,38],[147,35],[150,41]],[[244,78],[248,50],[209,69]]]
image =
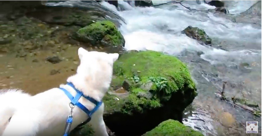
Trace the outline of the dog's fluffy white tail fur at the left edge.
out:
[[[0,90],[0,135],[18,107],[26,105],[31,96],[19,89]]]

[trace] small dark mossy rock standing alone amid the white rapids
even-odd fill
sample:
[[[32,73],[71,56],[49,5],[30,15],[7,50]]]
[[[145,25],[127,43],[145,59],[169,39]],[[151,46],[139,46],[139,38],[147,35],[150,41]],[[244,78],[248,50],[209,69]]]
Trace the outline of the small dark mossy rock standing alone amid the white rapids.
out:
[[[210,45],[212,41],[206,32],[203,29],[199,29],[198,27],[188,26],[182,31],[182,33],[185,33],[188,37],[196,39],[205,45]]]

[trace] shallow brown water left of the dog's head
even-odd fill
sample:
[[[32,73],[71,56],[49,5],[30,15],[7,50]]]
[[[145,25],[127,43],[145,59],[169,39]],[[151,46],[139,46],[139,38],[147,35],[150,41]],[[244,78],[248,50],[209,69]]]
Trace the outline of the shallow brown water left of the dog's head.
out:
[[[53,56],[51,51],[41,51],[37,56],[16,58],[14,54],[1,54],[0,57],[0,89],[19,88],[31,94],[37,94],[59,84],[65,83],[67,77],[75,74],[77,68],[78,47],[69,47],[59,52],[60,63],[52,64],[45,60]],[[69,59],[68,59],[69,58]],[[38,62],[33,62],[37,59]],[[51,70],[59,72],[50,75]]]

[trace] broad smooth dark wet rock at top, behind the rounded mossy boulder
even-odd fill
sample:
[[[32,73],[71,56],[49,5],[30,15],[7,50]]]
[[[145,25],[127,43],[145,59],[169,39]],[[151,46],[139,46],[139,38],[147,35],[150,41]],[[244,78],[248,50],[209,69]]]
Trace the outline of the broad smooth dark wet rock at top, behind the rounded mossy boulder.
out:
[[[79,6],[84,5],[84,6]],[[27,13],[43,22],[65,26],[85,27],[99,20],[110,20],[117,26],[124,19],[96,1],[78,1],[73,6],[39,6]]]

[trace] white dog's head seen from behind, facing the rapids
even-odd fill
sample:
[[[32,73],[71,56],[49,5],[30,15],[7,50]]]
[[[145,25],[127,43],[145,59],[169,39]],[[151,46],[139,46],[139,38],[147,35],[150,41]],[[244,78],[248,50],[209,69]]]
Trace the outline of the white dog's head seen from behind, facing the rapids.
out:
[[[96,90],[107,91],[112,74],[113,64],[118,59],[117,53],[88,52],[84,48],[78,49],[80,65],[77,68],[77,74],[84,77],[89,86]]]

